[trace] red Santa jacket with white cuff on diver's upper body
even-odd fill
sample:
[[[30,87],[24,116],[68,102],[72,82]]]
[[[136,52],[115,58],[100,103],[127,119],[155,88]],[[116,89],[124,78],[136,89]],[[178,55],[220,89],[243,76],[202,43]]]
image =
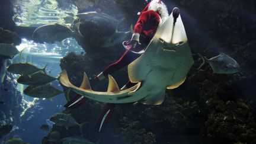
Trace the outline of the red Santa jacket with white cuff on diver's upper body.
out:
[[[140,35],[143,35],[146,37],[146,39],[151,40],[156,32],[156,29],[158,28],[159,23],[160,17],[156,11],[148,10],[142,12],[134,27],[132,40],[139,41]]]

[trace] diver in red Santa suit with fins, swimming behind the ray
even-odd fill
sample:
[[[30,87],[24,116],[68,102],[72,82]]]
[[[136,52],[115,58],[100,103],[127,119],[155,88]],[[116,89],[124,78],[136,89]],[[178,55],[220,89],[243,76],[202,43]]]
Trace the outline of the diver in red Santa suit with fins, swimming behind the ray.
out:
[[[180,11],[177,9],[173,10],[173,16],[177,19]],[[143,50],[148,46],[149,42],[153,38],[158,29],[159,25],[163,24],[165,20],[168,19],[168,9],[164,2],[161,0],[152,0],[148,5],[141,11],[138,12],[139,18],[133,30],[132,39],[123,41],[123,46],[127,49],[126,52],[114,63],[108,65],[103,72],[95,76],[95,81],[101,81],[108,74],[111,74],[124,66],[129,65],[133,60],[137,59]],[[132,82],[128,81],[122,89],[132,87]],[[83,95],[78,95],[73,98],[65,107],[78,107],[84,101],[87,100]],[[104,110],[101,112],[100,117],[95,124],[95,130],[97,132],[102,132],[104,127],[110,120],[111,114],[113,114],[114,107],[116,104],[106,104]]]

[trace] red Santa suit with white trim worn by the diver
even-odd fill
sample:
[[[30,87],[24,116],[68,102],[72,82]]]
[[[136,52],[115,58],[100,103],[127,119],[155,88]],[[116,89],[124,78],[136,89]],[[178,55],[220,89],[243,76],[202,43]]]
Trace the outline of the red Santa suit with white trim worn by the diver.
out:
[[[124,46],[128,47],[129,50],[126,50],[117,62],[107,66],[95,79],[104,79],[108,74],[129,65],[133,60],[139,57],[140,55],[137,53],[129,51],[139,52],[144,49],[153,38],[159,25],[164,23],[169,17],[167,7],[161,0],[152,0],[146,5],[142,12],[138,12],[138,15],[140,15],[140,17],[134,27],[132,39],[123,42]],[[137,44],[136,47],[132,47],[129,45],[132,40],[138,41],[139,44]]]

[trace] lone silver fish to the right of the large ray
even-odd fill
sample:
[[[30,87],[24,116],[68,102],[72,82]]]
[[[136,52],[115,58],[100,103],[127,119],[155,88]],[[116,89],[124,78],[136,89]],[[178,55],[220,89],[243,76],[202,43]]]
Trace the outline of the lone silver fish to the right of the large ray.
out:
[[[205,56],[201,56],[200,53],[198,54],[201,57],[201,59],[203,59],[203,63],[199,66],[198,69],[200,69],[201,66],[203,66],[206,61],[210,64],[213,73],[232,74],[239,72],[241,70],[236,60],[226,55],[225,53],[220,53],[220,55],[217,55],[210,59],[207,59]]]

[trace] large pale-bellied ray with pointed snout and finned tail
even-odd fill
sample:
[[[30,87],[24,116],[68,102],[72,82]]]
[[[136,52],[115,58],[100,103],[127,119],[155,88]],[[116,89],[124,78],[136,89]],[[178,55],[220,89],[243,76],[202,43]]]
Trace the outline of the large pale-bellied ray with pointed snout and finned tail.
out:
[[[116,81],[108,75],[107,92],[92,91],[87,75],[80,88],[69,82],[64,70],[59,81],[78,94],[104,103],[161,104],[165,90],[179,87],[193,65],[193,57],[181,17],[174,25],[172,14],[159,27],[145,52],[128,66],[129,79],[135,86],[120,91]]]

